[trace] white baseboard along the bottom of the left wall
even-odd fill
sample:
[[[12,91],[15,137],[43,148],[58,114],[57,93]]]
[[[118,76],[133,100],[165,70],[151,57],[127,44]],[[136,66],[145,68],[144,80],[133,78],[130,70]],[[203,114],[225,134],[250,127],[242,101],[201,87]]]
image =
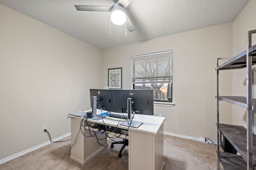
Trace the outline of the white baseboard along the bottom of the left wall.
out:
[[[71,133],[68,133],[68,134],[63,135],[63,136],[61,136],[61,137],[58,137],[58,138],[56,138],[56,139],[53,139],[52,141],[55,142],[55,141],[58,141],[58,140],[60,140],[60,139],[65,138],[65,137],[68,137],[68,136],[70,136],[70,135],[71,135]],[[12,156],[9,156],[9,157],[7,157],[7,158],[4,158],[4,159],[0,160],[0,164],[3,164],[4,162],[8,162],[9,160],[12,160],[12,159],[14,159],[14,158],[18,158],[19,156],[22,156],[22,155],[24,155],[24,154],[26,154],[26,153],[28,153],[28,152],[32,152],[33,150],[42,148],[42,147],[44,147],[44,146],[46,146],[46,145],[49,145],[50,143],[51,143],[51,142],[48,141],[48,142],[43,143],[43,144],[41,144],[41,145],[38,145],[38,146],[36,146],[36,147],[30,148],[30,149],[28,149],[28,150],[24,150],[24,151],[22,151],[22,152],[20,152],[20,153],[17,153],[17,154],[14,154],[14,155],[12,155]]]

